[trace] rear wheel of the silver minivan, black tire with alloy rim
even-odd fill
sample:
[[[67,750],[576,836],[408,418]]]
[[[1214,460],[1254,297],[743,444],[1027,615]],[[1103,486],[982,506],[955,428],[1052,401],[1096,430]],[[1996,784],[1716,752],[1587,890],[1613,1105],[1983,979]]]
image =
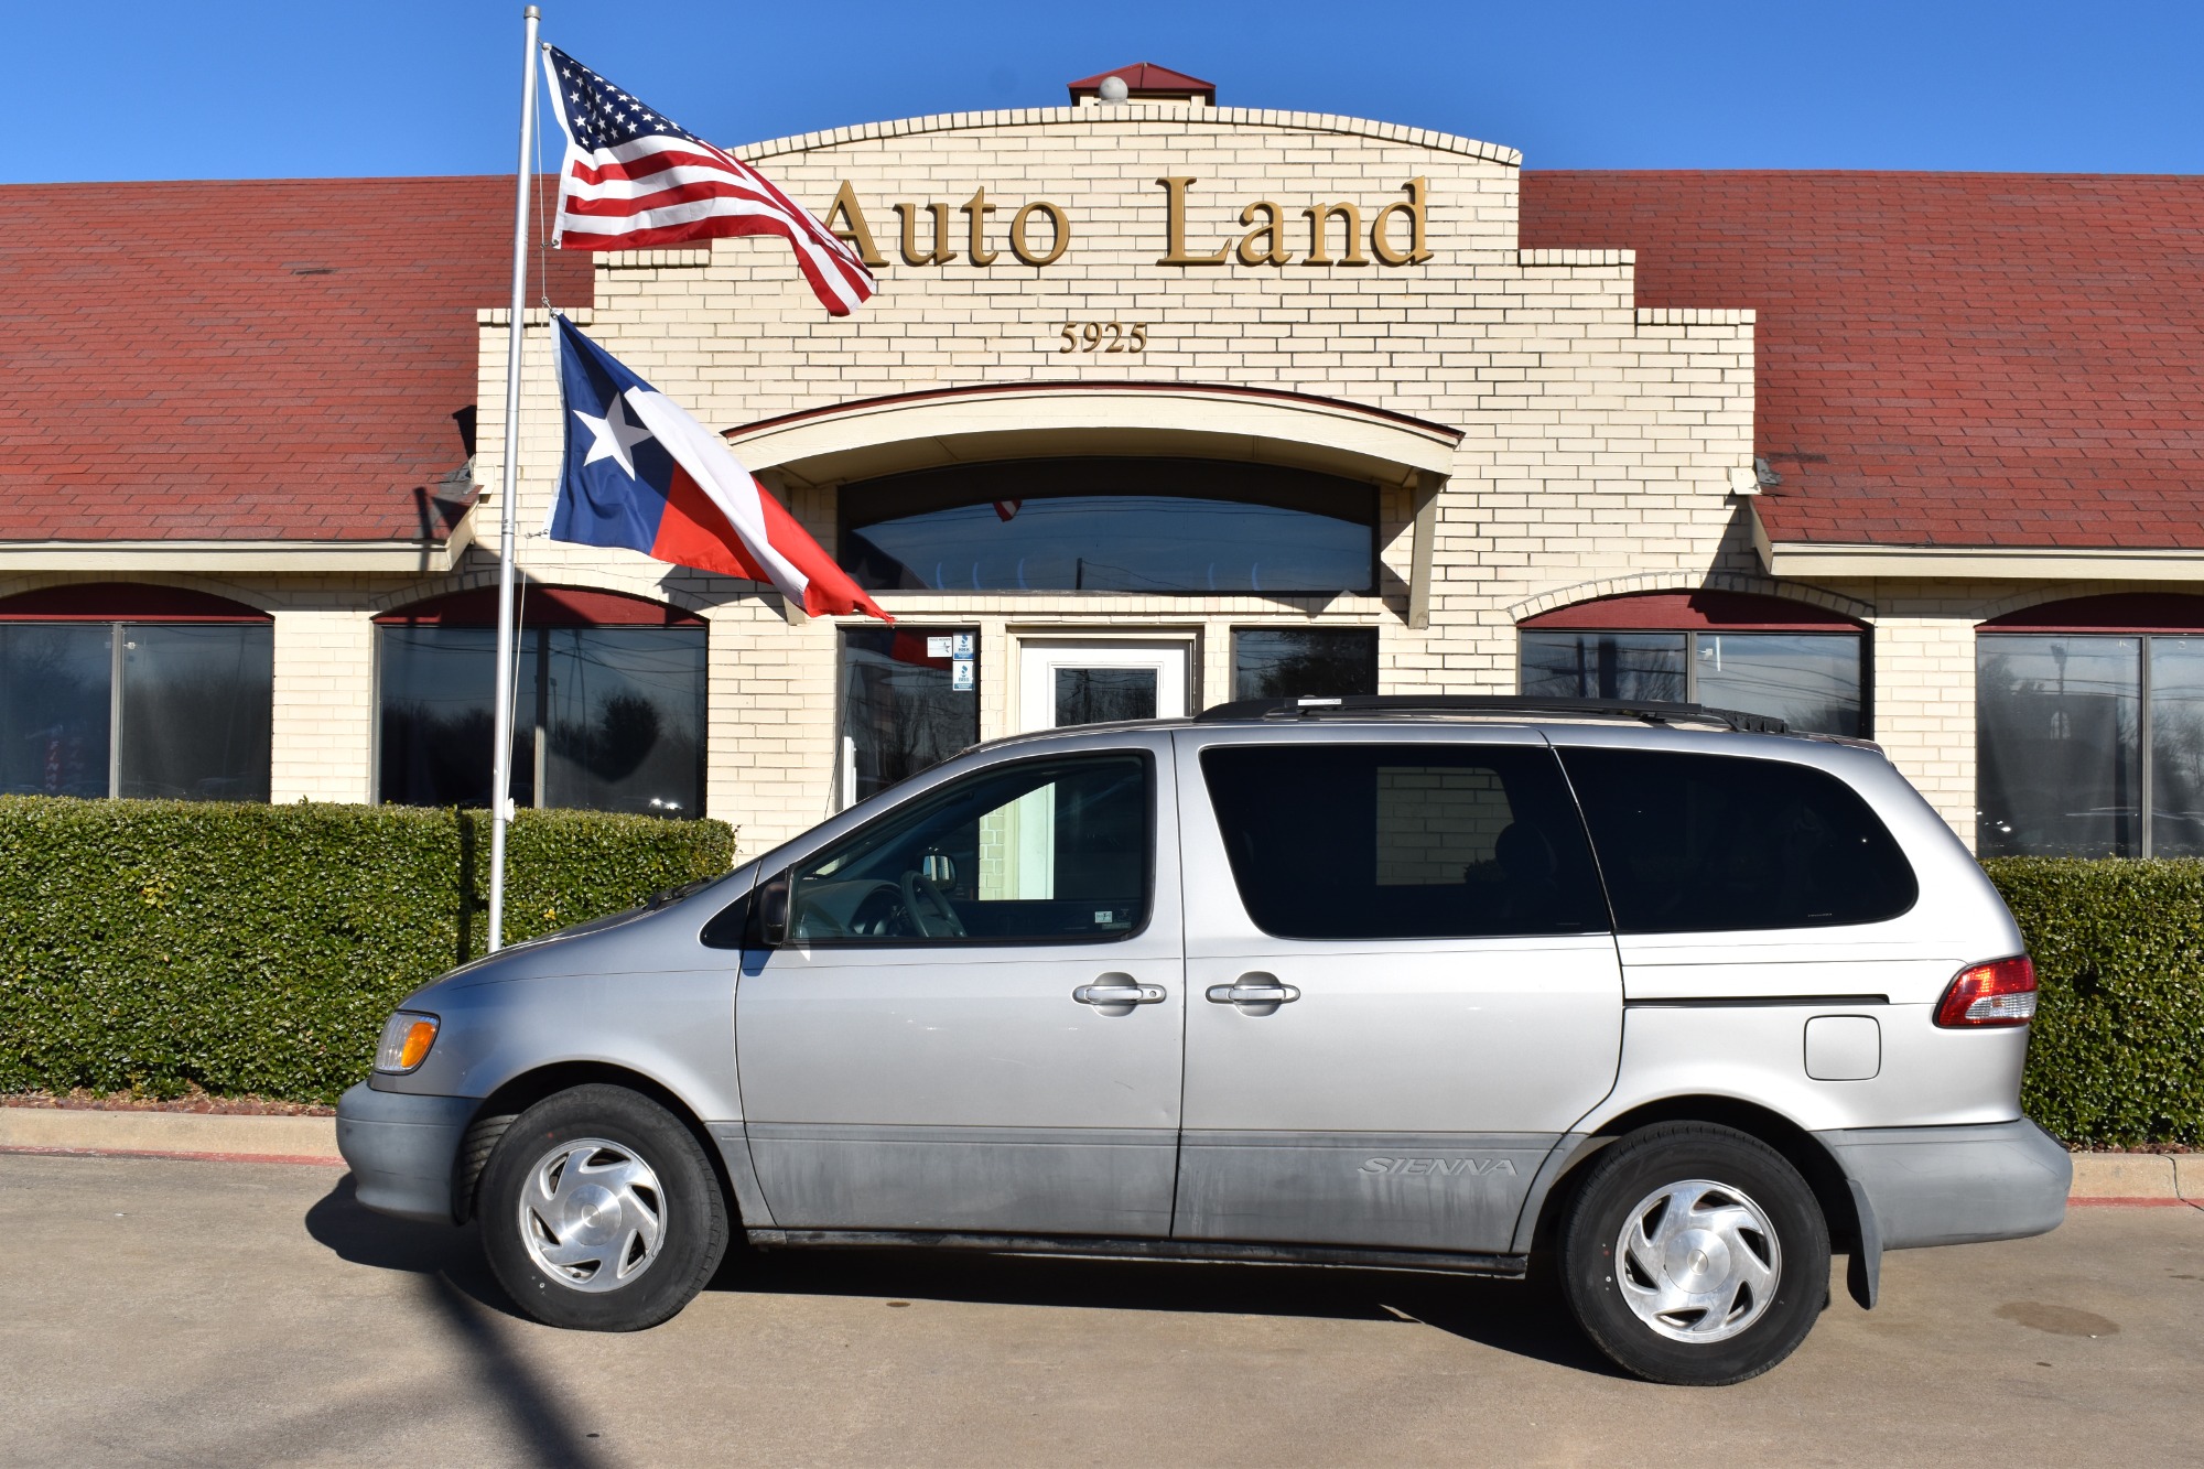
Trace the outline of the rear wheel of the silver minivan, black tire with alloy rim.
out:
[[[1699,1180],[1719,1187],[1675,1195],[1693,1198],[1690,1204],[1653,1202],[1666,1189]],[[1644,1204],[1651,1211],[1640,1213]],[[1679,1207],[1730,1224],[1684,1233],[1682,1220],[1693,1215],[1677,1213],[1679,1233],[1655,1248],[1668,1209]],[[1624,1226],[1640,1231],[1640,1248],[1618,1259]],[[1724,1268],[1735,1248],[1750,1251],[1757,1266]],[[1673,1259],[1675,1273],[1649,1277],[1646,1255]],[[1710,1259],[1713,1273],[1688,1275]],[[1770,1264],[1772,1282],[1765,1279]],[[1662,1286],[1682,1290],[1688,1284],[1713,1286],[1706,1299],[1717,1306],[1662,1312]],[[1713,1123],[1660,1123],[1611,1143],[1591,1160],[1560,1222],[1560,1286],[1578,1326],[1622,1370],[1653,1383],[1724,1387],[1768,1372],[1814,1330],[1829,1299],[1829,1224],[1798,1169],[1759,1138]],[[1721,1310],[1728,1315],[1717,1315]]]

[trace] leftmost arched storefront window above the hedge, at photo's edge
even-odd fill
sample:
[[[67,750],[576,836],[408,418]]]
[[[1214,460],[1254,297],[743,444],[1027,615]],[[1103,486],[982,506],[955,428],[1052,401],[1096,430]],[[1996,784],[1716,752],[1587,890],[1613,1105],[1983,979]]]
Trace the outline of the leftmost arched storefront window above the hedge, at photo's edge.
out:
[[[115,611],[145,620],[101,615]],[[269,618],[203,593],[0,602],[0,790],[267,801],[273,664]]]

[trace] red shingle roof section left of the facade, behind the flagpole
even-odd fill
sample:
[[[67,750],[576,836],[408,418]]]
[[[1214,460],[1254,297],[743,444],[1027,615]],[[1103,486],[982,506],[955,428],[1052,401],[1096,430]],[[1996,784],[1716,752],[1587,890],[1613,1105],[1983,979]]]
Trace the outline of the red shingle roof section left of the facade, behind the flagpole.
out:
[[[441,538],[511,218],[511,179],[0,187],[0,540]]]

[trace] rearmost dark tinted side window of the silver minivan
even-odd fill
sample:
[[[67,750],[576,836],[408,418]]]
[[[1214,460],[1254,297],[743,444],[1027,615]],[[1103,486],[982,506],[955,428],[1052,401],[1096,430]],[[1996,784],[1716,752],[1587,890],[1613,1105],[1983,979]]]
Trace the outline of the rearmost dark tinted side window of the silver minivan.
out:
[[[1920,896],[1898,840],[1825,770],[1660,750],[1560,759],[1620,933],[1869,924]]]

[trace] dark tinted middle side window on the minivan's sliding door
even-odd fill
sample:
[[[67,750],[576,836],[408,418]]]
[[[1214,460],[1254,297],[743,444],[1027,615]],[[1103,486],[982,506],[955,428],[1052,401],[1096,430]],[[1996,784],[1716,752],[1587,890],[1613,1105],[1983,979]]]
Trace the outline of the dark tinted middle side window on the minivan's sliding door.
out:
[[[1247,918],[1303,940],[1605,933],[1547,750],[1217,746],[1201,776]]]

